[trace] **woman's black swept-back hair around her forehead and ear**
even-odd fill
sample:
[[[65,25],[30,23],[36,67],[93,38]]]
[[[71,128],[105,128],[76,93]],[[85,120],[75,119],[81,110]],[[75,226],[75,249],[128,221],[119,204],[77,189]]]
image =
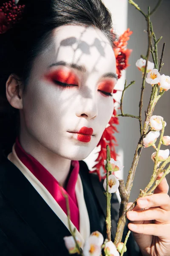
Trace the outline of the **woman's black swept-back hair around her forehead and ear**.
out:
[[[25,85],[35,57],[45,49],[51,31],[66,24],[95,26],[111,44],[111,14],[101,0],[20,0],[23,19],[0,35],[0,148],[11,151],[18,132],[18,110],[6,99],[6,81],[14,74]]]

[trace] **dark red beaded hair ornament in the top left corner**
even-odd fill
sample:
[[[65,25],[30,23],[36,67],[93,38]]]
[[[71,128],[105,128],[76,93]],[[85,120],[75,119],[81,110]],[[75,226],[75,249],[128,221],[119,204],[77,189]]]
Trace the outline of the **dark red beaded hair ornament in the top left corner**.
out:
[[[16,5],[15,0],[3,3],[0,6],[0,34],[4,34],[8,29],[22,19],[25,5]]]

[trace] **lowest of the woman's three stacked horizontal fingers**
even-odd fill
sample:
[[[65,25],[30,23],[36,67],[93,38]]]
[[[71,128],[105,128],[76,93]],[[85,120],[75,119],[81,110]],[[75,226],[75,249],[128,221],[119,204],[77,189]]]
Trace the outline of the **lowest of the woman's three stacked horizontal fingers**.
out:
[[[129,223],[128,228],[139,234],[159,236],[161,238],[169,238],[170,242],[170,224],[133,224]]]

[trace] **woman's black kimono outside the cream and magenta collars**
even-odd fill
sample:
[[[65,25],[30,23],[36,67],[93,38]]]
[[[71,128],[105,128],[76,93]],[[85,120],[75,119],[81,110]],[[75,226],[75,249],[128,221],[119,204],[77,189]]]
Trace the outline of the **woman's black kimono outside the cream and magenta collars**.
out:
[[[84,161],[79,161],[79,165],[91,233],[98,230],[105,238],[106,201],[102,183],[89,173]],[[114,237],[119,211],[116,194],[111,204]],[[3,157],[0,163],[0,256],[68,256],[65,236],[71,236],[67,227],[22,172]],[[127,251],[124,256],[140,255],[132,236],[127,242]]]

